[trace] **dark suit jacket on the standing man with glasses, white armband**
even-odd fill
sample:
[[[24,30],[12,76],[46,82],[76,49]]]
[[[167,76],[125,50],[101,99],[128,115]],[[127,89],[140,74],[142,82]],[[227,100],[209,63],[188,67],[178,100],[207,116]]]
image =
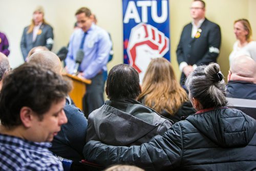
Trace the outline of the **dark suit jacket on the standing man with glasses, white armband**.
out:
[[[183,28],[176,50],[179,64],[185,61],[188,65],[200,66],[217,61],[221,45],[220,27],[205,18],[200,29],[200,37],[191,38],[192,24],[189,23]],[[184,78],[185,75],[182,73],[181,79]]]

